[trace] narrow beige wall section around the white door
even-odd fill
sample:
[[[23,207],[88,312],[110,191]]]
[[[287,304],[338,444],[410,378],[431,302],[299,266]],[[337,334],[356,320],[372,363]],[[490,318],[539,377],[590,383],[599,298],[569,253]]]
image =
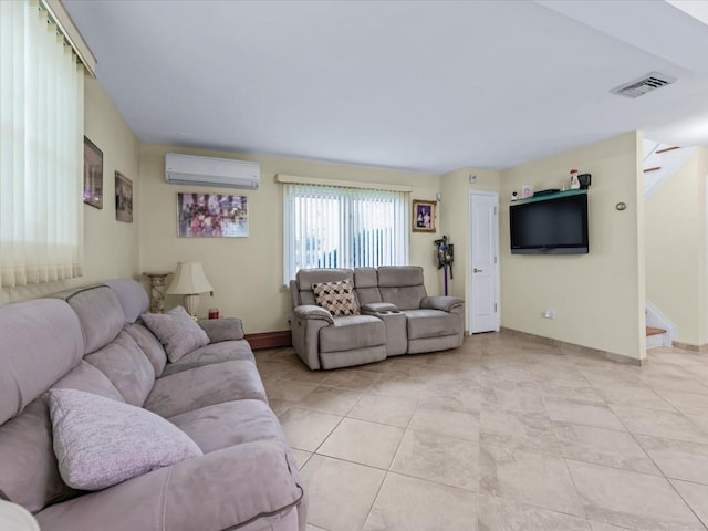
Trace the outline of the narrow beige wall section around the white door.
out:
[[[470,175],[477,180],[470,184]],[[440,177],[440,220],[444,235],[455,244],[455,263],[452,266],[455,279],[450,281],[450,295],[465,299],[465,330],[469,330],[469,192],[499,192],[501,171],[491,169],[461,168]],[[500,205],[503,202],[500,199]]]

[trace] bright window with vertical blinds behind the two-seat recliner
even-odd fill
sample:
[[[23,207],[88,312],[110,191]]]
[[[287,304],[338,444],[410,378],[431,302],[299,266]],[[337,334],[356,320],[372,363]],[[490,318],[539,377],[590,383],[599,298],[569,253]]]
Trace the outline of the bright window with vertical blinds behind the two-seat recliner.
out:
[[[284,186],[284,280],[300,269],[406,266],[408,198],[403,191]]]

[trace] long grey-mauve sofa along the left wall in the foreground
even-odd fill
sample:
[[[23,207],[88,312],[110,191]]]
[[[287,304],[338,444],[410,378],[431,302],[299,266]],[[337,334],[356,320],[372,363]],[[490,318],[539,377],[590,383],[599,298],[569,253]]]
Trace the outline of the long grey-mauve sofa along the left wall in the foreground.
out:
[[[227,334],[205,327],[214,341],[170,363],[140,324],[143,288],[106,284],[0,306],[0,497],[34,513],[43,531],[304,531],[298,467],[240,321]],[[191,438],[199,455],[102,490],[75,490],[53,451],[50,400],[66,393],[56,389],[147,409]]]

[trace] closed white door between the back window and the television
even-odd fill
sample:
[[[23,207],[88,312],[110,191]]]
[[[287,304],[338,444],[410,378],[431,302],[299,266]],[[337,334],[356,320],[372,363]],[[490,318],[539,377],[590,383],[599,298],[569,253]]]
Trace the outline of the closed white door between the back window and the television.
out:
[[[499,331],[499,196],[470,192],[469,331]]]

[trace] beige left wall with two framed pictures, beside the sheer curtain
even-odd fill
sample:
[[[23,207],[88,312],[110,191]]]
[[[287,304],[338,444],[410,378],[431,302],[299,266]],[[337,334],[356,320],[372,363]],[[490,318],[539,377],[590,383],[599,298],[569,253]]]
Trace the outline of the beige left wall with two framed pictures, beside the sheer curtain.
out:
[[[138,188],[138,140],[96,80],[84,83],[84,134],[103,152],[103,209],[83,206],[84,277],[0,290],[0,303],[31,299],[73,285],[116,277],[138,275],[139,216],[134,204],[133,223],[115,220],[114,173],[121,171]],[[137,201],[139,201],[139,195]]]

